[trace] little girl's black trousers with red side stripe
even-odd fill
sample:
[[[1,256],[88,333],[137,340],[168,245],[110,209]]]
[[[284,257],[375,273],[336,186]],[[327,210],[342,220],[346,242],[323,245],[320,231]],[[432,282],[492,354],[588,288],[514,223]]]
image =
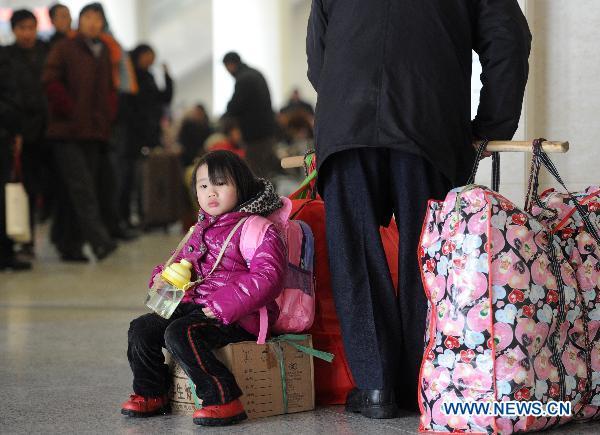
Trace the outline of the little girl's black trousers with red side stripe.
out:
[[[209,319],[196,304],[180,304],[170,319],[154,313],[138,317],[129,326],[127,348],[133,391],[144,397],[167,394],[171,379],[162,353],[165,347],[196,385],[204,406],[231,402],[242,392],[212,350],[249,340],[256,337],[238,325]]]

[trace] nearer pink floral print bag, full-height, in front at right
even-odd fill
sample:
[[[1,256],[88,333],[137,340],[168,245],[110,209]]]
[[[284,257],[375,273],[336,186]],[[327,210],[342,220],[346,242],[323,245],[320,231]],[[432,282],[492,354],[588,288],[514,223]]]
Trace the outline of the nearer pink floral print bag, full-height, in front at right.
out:
[[[589,405],[583,298],[556,234],[499,193],[468,185],[429,202],[419,258],[429,301],[420,431],[542,430]],[[449,402],[507,400],[570,401],[573,412],[550,418],[443,410]]]

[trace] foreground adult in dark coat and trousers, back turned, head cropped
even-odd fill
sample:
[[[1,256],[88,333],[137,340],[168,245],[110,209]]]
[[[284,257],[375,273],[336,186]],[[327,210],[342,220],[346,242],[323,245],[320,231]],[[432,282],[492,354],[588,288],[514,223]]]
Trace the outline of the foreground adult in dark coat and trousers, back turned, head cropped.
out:
[[[308,77],[331,279],[367,417],[416,408],[427,304],[417,262],[426,203],[466,181],[474,139],[510,139],[531,35],[516,0],[313,0]],[[471,50],[483,67],[470,120]],[[398,296],[378,227],[400,230]]]

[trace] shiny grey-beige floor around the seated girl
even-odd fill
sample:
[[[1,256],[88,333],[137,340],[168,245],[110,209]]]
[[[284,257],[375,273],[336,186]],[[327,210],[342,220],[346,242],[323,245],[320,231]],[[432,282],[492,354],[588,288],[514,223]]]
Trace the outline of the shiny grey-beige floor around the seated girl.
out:
[[[122,416],[131,389],[128,323],[145,312],[148,274],[177,241],[176,234],[149,234],[81,266],[60,263],[42,239],[34,271],[0,273],[0,433],[416,433],[415,415],[374,421],[339,407],[227,429],[200,428],[190,417]],[[598,434],[600,423],[553,433]]]

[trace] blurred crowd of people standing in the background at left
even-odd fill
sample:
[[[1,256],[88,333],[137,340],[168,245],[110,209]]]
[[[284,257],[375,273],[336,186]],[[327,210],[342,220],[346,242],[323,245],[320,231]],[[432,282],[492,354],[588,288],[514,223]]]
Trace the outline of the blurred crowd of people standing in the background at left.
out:
[[[0,189],[0,270],[32,267],[41,222],[61,260],[81,263],[90,261],[86,245],[102,260],[143,231],[193,223],[186,174],[208,151],[237,153],[282,194],[301,178],[280,166],[312,147],[314,111],[298,90],[275,114],[264,76],[230,52],[226,113],[213,121],[197,104],[174,119],[174,82],[163,64],[157,85],[153,47],[125,50],[101,3],[84,6],[76,28],[67,6],[48,12],[55,32],[47,41],[36,16],[19,9],[10,19],[15,41],[0,47],[0,186],[23,183],[33,234],[26,243],[6,236]]]

